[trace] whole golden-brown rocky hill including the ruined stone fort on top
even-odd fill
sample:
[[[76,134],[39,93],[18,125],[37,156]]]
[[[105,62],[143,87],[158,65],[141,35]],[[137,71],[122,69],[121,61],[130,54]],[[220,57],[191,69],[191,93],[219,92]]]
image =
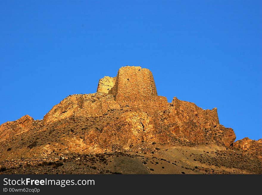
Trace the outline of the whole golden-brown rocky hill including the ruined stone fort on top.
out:
[[[1,173],[262,173],[262,142],[236,141],[203,110],[158,96],[151,71],[121,67],[97,92],[0,126]]]

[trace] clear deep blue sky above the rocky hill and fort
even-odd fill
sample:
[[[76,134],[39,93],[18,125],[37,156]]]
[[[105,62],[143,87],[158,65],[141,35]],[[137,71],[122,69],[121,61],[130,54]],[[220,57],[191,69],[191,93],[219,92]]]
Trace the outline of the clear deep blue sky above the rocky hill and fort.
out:
[[[95,93],[125,65],[262,138],[262,1],[0,1],[0,124]]]

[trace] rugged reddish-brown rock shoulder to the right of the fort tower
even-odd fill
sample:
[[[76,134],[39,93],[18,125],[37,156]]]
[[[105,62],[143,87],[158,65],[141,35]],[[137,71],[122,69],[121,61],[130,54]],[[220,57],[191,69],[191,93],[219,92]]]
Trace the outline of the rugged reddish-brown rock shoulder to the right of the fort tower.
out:
[[[170,110],[165,123],[174,122],[170,131],[178,137],[194,142],[213,140],[224,143],[225,146],[230,146],[236,139],[233,129],[219,124],[216,108],[203,110],[194,103],[181,101],[174,97]]]

